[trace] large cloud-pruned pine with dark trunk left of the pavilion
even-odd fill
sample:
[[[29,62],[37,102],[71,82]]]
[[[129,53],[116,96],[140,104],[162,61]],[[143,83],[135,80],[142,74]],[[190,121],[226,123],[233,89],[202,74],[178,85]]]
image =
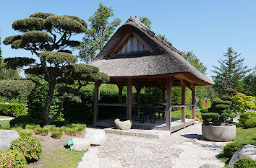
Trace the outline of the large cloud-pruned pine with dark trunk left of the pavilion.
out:
[[[22,35],[12,35],[3,43],[14,49],[30,50],[34,58],[7,58],[8,68],[24,68],[26,74],[42,77],[48,83],[47,94],[43,108],[43,122],[50,124],[60,115],[65,99],[80,102],[78,90],[88,84],[88,81],[107,82],[109,77],[99,72],[94,66],[75,64],[77,56],[70,49],[80,45],[79,41],[71,40],[73,35],[85,32],[87,23],[79,17],[50,13],[35,13],[29,18],[13,22],[12,28],[22,32]],[[37,83],[35,83],[37,84]],[[53,118],[48,113],[54,97],[56,84],[61,86],[61,101],[58,112]],[[76,84],[78,87],[71,86]],[[35,92],[40,92],[36,90]]]

